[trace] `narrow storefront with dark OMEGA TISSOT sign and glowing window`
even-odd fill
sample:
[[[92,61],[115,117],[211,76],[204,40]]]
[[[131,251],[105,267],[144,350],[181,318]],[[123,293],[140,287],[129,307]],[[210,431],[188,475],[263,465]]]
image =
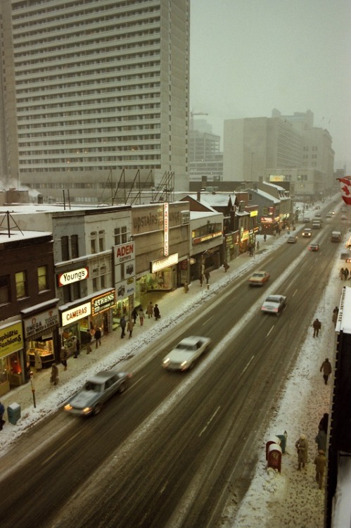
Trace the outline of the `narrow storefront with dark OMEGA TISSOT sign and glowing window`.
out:
[[[30,367],[34,367],[36,355],[40,358],[42,368],[51,367],[55,360],[59,325],[57,303],[58,299],[54,299],[49,303],[21,310],[27,364]]]

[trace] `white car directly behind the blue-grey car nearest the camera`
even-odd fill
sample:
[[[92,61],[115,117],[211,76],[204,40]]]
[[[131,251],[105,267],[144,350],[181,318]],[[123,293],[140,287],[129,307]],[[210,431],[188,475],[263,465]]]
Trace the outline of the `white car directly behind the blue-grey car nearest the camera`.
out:
[[[167,370],[190,370],[210,344],[209,337],[185,337],[163,359],[162,367]]]

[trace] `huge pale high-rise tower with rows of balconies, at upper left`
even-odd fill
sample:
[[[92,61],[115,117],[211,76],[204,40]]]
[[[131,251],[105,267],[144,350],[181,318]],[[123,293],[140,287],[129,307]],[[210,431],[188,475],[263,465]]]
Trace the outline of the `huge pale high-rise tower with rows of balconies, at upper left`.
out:
[[[189,4],[1,0],[3,183],[98,201],[173,173],[188,190]]]

